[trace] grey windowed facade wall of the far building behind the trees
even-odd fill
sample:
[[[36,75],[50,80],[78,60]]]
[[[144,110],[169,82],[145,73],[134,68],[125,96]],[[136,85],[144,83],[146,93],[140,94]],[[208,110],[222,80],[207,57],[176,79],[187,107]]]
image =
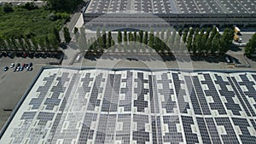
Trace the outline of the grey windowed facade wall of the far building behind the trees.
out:
[[[93,26],[121,26],[129,27],[131,25],[158,26],[157,18],[154,16],[143,17],[143,14],[108,14],[102,16],[102,19],[94,20],[103,14],[84,14],[84,23],[90,21]],[[154,14],[160,19],[165,20],[171,26],[232,26],[256,27],[256,14]],[[108,17],[108,19],[107,19]],[[153,20],[154,19],[154,20]],[[93,20],[93,21],[91,21]],[[154,24],[151,24],[154,23]],[[160,21],[160,24],[163,22]]]

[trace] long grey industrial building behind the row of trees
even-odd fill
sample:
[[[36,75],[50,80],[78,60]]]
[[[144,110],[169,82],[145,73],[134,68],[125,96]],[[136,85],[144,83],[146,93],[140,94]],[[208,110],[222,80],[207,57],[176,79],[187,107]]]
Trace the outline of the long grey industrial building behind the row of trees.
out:
[[[90,0],[86,3],[84,23],[91,26],[140,28],[154,22],[145,14],[154,14],[174,27],[256,26],[255,0]],[[108,19],[97,19],[108,14]],[[121,15],[120,15],[121,14]],[[138,19],[139,18],[139,19]],[[150,17],[148,17],[150,18]],[[94,20],[94,21],[91,21]],[[163,27],[155,25],[153,27]]]

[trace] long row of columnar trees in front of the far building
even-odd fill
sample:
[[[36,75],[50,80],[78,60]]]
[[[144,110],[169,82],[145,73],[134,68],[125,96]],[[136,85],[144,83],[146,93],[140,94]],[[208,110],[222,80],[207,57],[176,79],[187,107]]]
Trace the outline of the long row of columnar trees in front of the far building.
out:
[[[98,28],[96,31],[96,37],[91,37],[86,40],[84,28],[80,30],[77,36],[77,41],[80,43],[79,48],[89,49],[91,51],[103,51],[114,45],[112,32],[106,33],[103,29],[100,31]],[[118,32],[117,45],[121,50],[127,49],[127,45],[131,42],[143,43],[148,47],[154,49],[157,52],[179,52],[189,51],[194,55],[224,55],[232,44],[234,32],[231,29],[225,29],[221,35],[215,27],[205,29],[193,28],[184,29],[183,31],[176,32],[175,29],[163,29],[161,32],[154,32],[153,29],[148,32]],[[82,36],[82,37],[80,37]],[[84,47],[83,44],[86,45]],[[132,49],[140,49],[133,48]]]

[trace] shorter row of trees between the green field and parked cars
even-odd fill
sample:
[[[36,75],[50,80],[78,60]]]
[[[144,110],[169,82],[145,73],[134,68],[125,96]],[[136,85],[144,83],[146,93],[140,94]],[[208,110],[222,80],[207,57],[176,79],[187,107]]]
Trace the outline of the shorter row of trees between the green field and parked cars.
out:
[[[44,51],[58,50],[61,43],[59,31],[54,28],[53,33],[45,37],[0,37],[0,50]]]

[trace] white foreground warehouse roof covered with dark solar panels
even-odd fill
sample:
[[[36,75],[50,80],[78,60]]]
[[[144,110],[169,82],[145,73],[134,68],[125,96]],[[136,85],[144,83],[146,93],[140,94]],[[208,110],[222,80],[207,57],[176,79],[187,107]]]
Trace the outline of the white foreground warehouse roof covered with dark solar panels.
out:
[[[45,69],[0,143],[255,143],[256,72]]]

